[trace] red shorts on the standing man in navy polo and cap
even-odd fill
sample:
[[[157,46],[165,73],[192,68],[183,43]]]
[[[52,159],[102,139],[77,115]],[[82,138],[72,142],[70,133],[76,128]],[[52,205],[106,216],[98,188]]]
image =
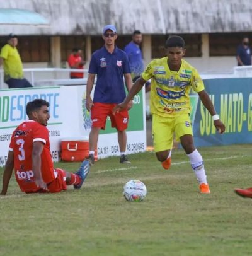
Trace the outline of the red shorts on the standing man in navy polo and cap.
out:
[[[118,131],[124,131],[128,127],[129,113],[123,110],[113,115],[113,108],[117,104],[98,103],[95,102],[91,108],[92,127],[105,129],[106,118],[110,117],[111,127],[115,127]]]

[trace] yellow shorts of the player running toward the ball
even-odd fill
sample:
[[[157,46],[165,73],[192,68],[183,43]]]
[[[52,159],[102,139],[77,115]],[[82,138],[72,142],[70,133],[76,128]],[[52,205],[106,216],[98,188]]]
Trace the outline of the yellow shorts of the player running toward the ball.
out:
[[[161,117],[155,114],[152,116],[152,137],[155,152],[172,149],[174,133],[176,140],[186,134],[193,135],[188,113],[181,113],[175,117]]]

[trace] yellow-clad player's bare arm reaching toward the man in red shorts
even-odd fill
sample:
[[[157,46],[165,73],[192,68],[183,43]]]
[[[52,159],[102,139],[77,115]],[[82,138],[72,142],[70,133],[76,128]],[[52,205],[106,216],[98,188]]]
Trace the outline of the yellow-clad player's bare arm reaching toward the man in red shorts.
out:
[[[121,102],[121,103],[119,103],[118,105],[115,106],[115,108],[113,109],[113,113],[124,110],[125,108],[127,108],[130,100],[132,100],[132,98],[137,93],[139,93],[139,91],[142,89],[142,87],[144,86],[145,83],[146,83],[146,80],[142,79],[142,77],[137,79],[137,81],[135,81],[135,83],[132,85],[132,88],[130,88],[129,93],[126,96],[126,98],[123,100],[123,102]]]

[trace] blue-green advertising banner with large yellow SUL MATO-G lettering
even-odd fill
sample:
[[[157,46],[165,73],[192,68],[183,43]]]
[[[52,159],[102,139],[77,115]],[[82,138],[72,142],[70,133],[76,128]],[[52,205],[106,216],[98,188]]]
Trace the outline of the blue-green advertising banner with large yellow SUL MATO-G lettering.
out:
[[[210,113],[200,102],[193,134],[197,146],[252,143],[252,78],[206,79],[205,90],[226,125],[219,134]]]

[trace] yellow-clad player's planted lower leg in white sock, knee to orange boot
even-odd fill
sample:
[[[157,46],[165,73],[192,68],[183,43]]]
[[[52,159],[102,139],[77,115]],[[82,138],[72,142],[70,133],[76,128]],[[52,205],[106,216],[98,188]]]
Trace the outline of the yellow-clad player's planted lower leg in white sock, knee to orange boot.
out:
[[[203,159],[198,150],[194,146],[193,136],[186,134],[180,137],[180,142],[185,149],[185,153],[190,159],[191,166],[195,172],[198,183],[200,183],[200,192],[202,194],[209,194],[210,189],[207,183],[207,175],[205,175],[205,167],[203,164]]]

